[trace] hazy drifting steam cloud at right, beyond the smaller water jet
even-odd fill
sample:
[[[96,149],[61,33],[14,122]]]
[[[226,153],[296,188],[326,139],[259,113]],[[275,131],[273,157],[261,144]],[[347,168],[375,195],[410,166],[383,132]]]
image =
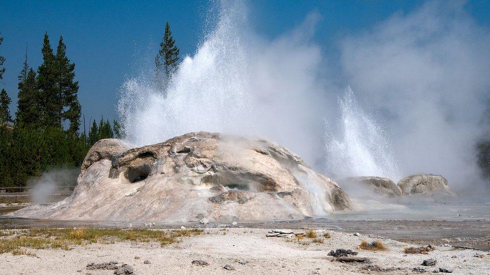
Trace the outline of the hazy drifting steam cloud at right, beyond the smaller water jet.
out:
[[[463,5],[430,2],[342,44],[345,76],[379,107],[402,172],[442,174],[452,188],[480,181],[474,144],[490,91],[490,34]]]

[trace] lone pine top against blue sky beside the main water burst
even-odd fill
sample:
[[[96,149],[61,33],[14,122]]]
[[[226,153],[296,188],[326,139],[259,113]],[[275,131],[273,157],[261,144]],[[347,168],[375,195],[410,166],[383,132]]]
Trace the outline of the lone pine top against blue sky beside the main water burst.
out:
[[[160,51],[158,51],[157,57],[155,58],[157,75],[164,70],[165,76],[169,78],[177,70],[178,61],[179,48],[175,46],[175,40],[170,31],[170,24],[167,22],[165,25],[165,35],[163,41],[160,43]]]

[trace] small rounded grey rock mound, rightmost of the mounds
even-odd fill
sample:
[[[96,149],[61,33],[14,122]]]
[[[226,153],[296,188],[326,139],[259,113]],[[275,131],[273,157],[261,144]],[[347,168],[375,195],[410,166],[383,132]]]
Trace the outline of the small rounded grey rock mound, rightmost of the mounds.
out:
[[[456,196],[447,186],[447,179],[441,175],[416,174],[407,176],[398,182],[398,186],[404,195]]]

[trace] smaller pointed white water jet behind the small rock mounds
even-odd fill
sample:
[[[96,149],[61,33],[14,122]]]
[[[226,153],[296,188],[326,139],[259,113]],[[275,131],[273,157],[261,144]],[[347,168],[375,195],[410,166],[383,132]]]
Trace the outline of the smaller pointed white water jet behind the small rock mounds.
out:
[[[327,129],[327,170],[336,177],[380,176],[398,181],[400,172],[388,134],[357,104],[348,87],[338,100],[338,130]],[[335,134],[337,133],[337,134]]]

